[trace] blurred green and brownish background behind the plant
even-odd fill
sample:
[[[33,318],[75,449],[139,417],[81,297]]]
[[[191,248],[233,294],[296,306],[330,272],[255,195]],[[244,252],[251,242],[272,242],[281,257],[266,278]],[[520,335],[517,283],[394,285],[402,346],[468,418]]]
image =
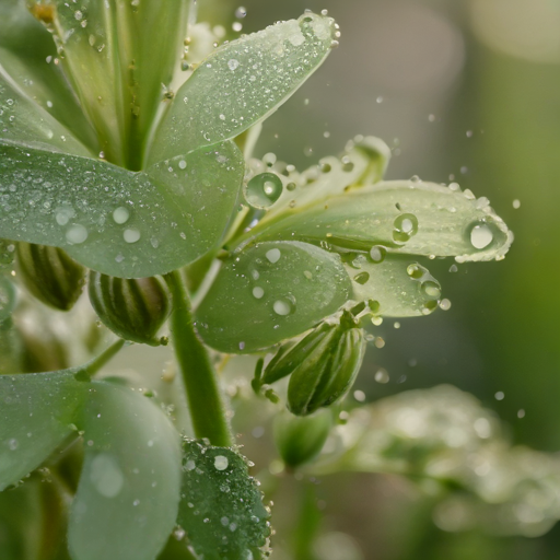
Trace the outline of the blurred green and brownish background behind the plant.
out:
[[[370,349],[355,388],[373,401],[453,384],[495,410],[514,443],[560,450],[560,1],[245,0],[237,19],[240,4],[230,5],[221,23],[244,33],[306,8],[327,9],[342,33],[267,120],[257,155],[305,167],[357,133],[375,135],[393,149],[388,178],[456,180],[487,196],[515,234],[501,262],[456,272],[451,260],[425,262],[451,310],[375,327],[386,345]],[[374,380],[380,366],[386,384]],[[285,544],[301,522],[284,483],[275,525]],[[325,537],[320,560],[337,550],[340,560],[560,559],[560,527],[534,539],[444,533],[429,499],[400,479],[337,475],[316,491],[323,526],[354,539],[337,548],[328,538],[346,537]],[[304,548],[296,560],[313,558]]]

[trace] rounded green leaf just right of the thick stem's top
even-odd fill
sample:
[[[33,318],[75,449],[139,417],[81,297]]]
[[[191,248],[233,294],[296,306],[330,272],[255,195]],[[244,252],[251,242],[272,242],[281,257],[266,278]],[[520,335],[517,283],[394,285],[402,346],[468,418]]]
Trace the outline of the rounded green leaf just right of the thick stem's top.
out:
[[[305,243],[260,243],[223,264],[197,310],[197,328],[217,350],[254,352],[312,328],[350,289],[338,255]]]

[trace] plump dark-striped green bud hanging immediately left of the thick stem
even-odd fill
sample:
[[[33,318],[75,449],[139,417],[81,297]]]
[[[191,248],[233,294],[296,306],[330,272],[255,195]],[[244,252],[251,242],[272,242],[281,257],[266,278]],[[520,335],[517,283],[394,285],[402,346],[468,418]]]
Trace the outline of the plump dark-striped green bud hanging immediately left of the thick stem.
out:
[[[171,312],[162,278],[114,278],[92,270],[89,293],[102,323],[120,338],[150,346],[165,343],[156,337]]]

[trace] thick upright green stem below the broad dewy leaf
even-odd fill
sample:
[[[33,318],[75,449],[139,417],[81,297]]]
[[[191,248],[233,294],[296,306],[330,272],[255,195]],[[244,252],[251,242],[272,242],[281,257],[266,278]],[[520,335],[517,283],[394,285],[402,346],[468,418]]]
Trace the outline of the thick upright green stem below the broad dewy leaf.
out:
[[[197,438],[208,438],[212,445],[233,445],[218,375],[208,351],[198,338],[190,300],[178,270],[165,276],[173,294],[171,331],[175,355],[187,392],[190,418]]]

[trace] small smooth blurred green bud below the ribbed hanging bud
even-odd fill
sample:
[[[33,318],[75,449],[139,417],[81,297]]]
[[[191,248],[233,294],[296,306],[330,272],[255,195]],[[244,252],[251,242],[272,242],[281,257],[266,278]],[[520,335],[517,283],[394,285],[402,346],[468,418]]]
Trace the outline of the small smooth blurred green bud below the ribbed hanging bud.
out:
[[[275,443],[282,460],[295,468],[314,459],[325,445],[332,417],[330,411],[322,410],[305,418],[289,413],[275,418]]]

